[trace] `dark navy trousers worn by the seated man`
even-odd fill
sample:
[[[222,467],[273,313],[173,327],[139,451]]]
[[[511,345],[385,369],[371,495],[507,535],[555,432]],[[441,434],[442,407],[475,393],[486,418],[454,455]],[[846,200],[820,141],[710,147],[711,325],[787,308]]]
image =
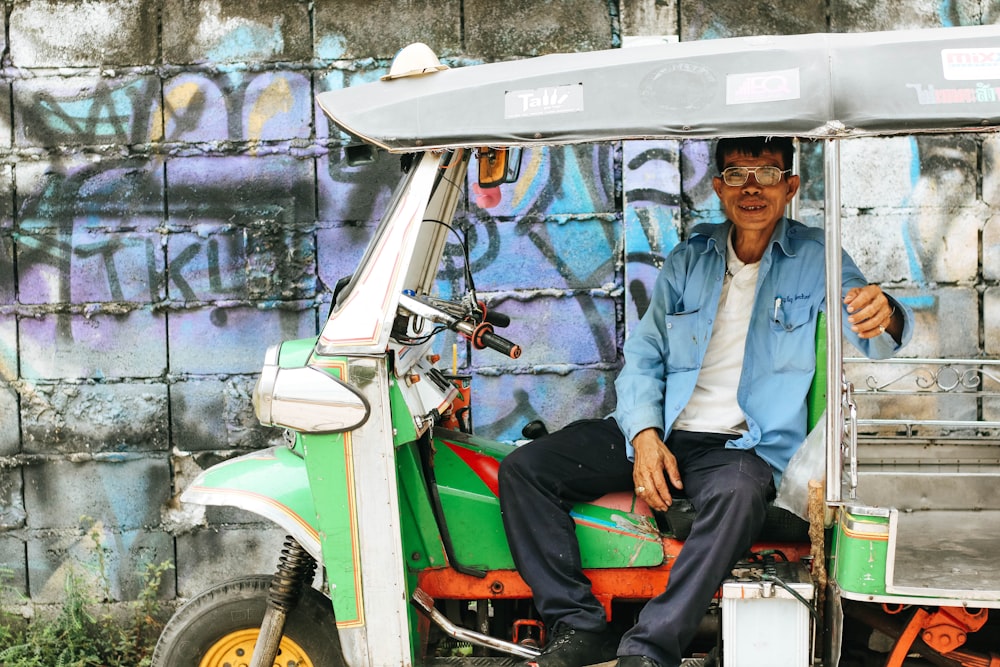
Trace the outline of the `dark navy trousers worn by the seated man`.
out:
[[[643,607],[618,655],[680,665],[722,580],[760,533],[774,497],[771,468],[752,451],[726,449],[729,439],[684,431],[668,438],[683,492],[697,514],[666,590]],[[632,462],[618,424],[613,419],[570,424],[513,451],[499,477],[511,553],[542,619],[549,627],[603,630],[604,608],[583,574],[569,512],[578,502],[632,489]]]

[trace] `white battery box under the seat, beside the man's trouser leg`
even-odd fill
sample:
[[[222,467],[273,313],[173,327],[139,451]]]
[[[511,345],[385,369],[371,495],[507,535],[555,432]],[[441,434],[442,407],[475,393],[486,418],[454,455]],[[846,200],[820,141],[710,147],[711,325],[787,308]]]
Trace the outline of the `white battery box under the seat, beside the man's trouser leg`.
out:
[[[815,587],[802,563],[737,565],[722,584],[722,656],[726,667],[809,667]]]

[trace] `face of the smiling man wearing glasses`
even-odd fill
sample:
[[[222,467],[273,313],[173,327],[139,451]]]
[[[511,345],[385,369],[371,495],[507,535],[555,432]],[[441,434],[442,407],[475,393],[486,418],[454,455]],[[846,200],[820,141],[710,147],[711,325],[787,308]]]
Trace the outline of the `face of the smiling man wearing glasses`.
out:
[[[764,167],[787,169],[781,153],[765,150],[760,156],[752,157],[744,153],[731,152],[725,157],[725,167]],[[785,205],[792,200],[799,189],[799,177],[783,174],[774,185],[761,185],[754,174],[750,174],[743,185],[726,185],[720,176],[712,179],[715,194],[722,202],[726,217],[740,232],[759,233],[770,238],[774,226],[785,213]]]

